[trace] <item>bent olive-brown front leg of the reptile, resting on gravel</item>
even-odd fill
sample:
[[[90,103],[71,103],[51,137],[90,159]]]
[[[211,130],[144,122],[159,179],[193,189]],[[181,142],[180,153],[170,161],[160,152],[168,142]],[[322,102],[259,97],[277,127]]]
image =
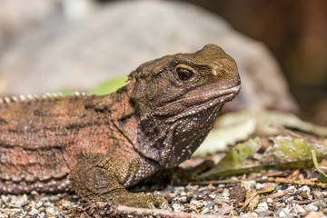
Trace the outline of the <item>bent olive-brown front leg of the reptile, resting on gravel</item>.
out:
[[[154,193],[129,193],[122,181],[136,173],[139,161],[132,160],[127,170],[111,157],[101,154],[80,158],[70,172],[74,191],[85,200],[110,201],[126,206],[151,208],[163,203],[163,197]]]

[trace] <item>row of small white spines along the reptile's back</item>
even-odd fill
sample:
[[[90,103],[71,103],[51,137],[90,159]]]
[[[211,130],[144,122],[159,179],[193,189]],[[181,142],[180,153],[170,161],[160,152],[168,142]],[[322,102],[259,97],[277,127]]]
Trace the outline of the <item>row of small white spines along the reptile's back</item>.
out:
[[[77,92],[75,91],[75,96],[84,96],[86,95],[84,92]],[[27,102],[27,101],[38,101],[41,99],[52,99],[57,97],[62,97],[64,94],[58,92],[58,93],[45,93],[43,95],[38,94],[20,94],[19,96],[5,96],[3,98],[0,98],[0,104],[11,104],[11,103],[17,103],[17,102]]]

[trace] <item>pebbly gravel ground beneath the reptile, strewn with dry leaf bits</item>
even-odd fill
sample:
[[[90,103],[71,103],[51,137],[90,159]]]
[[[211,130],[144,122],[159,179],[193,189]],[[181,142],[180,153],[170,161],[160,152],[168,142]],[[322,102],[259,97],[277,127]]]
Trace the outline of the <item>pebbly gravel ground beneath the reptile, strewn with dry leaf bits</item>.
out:
[[[233,177],[228,180],[166,185],[158,193],[166,196],[165,217],[196,213],[243,217],[327,217],[324,184],[305,180],[311,171],[285,171]],[[232,179],[232,180],[231,180]],[[272,182],[270,182],[272,181]],[[137,189],[158,187],[138,187]],[[158,210],[119,209],[110,203],[85,203],[75,194],[1,195],[0,217],[153,217]],[[187,215],[185,214],[185,215]],[[133,217],[133,216],[128,216]],[[186,216],[185,216],[186,217]]]

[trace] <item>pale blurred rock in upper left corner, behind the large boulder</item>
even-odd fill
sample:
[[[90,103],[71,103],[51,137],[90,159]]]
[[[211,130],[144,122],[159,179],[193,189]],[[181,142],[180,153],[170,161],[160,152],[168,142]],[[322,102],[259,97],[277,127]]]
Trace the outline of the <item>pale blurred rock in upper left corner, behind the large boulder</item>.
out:
[[[0,52],[15,39],[54,20],[83,18],[91,0],[0,0]]]

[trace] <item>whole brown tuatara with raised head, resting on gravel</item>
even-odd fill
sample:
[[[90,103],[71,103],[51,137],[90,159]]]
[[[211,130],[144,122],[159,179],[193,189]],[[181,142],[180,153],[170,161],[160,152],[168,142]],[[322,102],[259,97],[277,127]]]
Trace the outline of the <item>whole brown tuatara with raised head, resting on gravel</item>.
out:
[[[160,196],[125,188],[188,159],[239,90],[233,58],[206,45],[142,64],[113,94],[6,98],[0,193],[74,188],[85,199],[161,203]]]

